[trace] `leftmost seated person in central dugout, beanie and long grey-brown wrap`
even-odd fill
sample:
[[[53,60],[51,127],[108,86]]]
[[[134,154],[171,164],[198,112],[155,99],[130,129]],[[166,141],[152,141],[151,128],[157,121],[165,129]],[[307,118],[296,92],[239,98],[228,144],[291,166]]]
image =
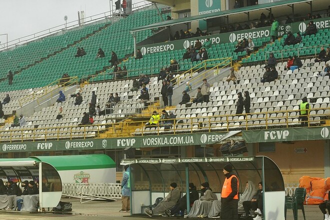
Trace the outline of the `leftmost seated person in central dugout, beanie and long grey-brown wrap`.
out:
[[[175,187],[174,187],[175,186]],[[169,184],[169,193],[167,196],[162,199],[157,206],[153,208],[153,210],[149,208],[144,209],[144,213],[148,215],[149,217],[152,216],[152,214],[155,215],[162,215],[165,210],[173,207],[178,199],[180,198],[180,189],[177,187],[176,182],[172,182]]]

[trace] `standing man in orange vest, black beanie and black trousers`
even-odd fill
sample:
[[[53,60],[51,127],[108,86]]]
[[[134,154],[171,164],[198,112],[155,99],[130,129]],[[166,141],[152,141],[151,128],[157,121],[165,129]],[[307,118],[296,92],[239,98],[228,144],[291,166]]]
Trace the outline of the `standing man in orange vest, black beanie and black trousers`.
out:
[[[221,219],[238,219],[238,178],[232,172],[232,165],[223,167],[225,176],[221,190]]]

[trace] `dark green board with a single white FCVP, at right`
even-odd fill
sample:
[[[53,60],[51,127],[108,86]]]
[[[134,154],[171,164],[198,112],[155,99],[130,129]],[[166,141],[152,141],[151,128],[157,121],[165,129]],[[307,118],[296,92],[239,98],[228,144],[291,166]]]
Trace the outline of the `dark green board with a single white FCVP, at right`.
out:
[[[329,126],[324,126],[243,130],[242,137],[247,143],[293,140],[324,140],[330,139],[329,129]]]

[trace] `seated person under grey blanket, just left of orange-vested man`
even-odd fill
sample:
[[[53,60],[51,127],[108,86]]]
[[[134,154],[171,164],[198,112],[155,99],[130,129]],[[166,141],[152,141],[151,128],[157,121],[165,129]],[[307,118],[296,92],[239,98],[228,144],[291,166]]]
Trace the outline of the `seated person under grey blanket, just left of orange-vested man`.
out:
[[[201,196],[198,200],[193,202],[193,205],[189,213],[185,216],[187,218],[195,217],[207,217],[208,212],[211,209],[213,200],[216,200],[215,194],[212,192],[212,189],[209,187],[208,182],[203,182],[200,185]]]

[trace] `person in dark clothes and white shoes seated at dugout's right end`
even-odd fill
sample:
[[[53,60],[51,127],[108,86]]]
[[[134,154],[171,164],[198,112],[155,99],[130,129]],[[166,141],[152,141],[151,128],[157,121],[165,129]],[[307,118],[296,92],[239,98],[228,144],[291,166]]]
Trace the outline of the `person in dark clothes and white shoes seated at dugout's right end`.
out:
[[[250,216],[250,209],[255,210],[254,213],[257,214],[257,216],[253,219],[255,220],[261,220],[261,213],[262,213],[262,207],[263,207],[263,198],[262,198],[262,182],[259,182],[258,190],[253,195],[252,199],[250,201],[243,201],[243,207],[245,210],[245,216]]]

